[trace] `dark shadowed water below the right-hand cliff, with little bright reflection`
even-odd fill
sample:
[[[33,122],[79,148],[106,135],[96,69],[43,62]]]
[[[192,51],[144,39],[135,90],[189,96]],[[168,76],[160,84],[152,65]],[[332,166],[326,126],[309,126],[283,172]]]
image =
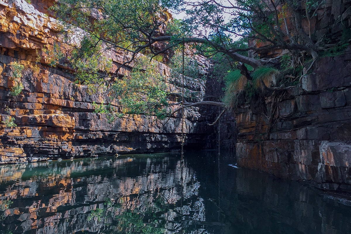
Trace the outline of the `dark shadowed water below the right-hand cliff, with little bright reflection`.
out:
[[[198,166],[197,158],[188,158],[187,165],[196,168],[198,193],[205,194],[206,222],[222,224],[213,233],[350,233],[350,201],[343,205],[323,191],[299,182],[235,169],[229,166],[233,163],[231,158],[223,154],[219,166],[218,157],[205,160]]]

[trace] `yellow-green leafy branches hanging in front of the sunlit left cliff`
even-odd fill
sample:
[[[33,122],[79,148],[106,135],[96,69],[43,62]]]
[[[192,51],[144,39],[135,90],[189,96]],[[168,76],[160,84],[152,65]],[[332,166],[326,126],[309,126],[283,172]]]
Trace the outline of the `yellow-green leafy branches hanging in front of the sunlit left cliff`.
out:
[[[76,82],[88,85],[89,92],[105,90],[110,99],[122,106],[123,114],[165,117],[168,102],[164,77],[150,57],[136,56],[141,52],[156,55],[145,37],[157,33],[170,17],[158,1],[61,0],[53,9],[65,29],[65,56],[62,58],[61,52],[52,55],[58,57],[54,59],[57,66],[71,67]],[[167,33],[181,35],[179,25],[179,21],[174,21]],[[125,53],[124,63],[117,65],[117,71],[112,71],[112,61],[107,59],[111,49],[123,49]],[[161,55],[155,59],[162,61]],[[129,63],[130,73],[120,75],[119,69]],[[95,111],[106,113],[109,121],[121,116],[112,106],[96,107]]]

